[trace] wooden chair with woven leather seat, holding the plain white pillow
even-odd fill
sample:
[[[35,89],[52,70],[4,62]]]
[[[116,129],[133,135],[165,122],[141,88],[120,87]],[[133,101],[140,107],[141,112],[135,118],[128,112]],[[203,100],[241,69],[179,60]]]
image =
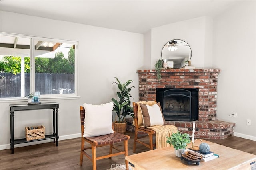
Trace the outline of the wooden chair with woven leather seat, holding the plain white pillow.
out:
[[[128,140],[130,136],[124,135],[121,133],[110,133],[108,135],[100,135],[95,137],[83,137],[84,134],[84,117],[85,110],[83,106],[80,106],[80,118],[81,118],[81,153],[80,153],[80,166],[83,164],[83,156],[85,155],[89,160],[92,161],[93,170],[96,170],[96,160],[109,158],[111,159],[112,156],[118,156],[124,154],[124,156],[128,156]],[[114,143],[124,142],[124,150],[120,150],[115,147]],[[91,147],[84,147],[85,142],[90,143]],[[102,147],[110,145],[109,154],[104,156],[96,157],[96,147]],[[92,149],[92,156],[86,153],[87,149]],[[112,149],[117,150],[117,153],[112,153]],[[126,169],[128,169],[128,161],[125,161]]]

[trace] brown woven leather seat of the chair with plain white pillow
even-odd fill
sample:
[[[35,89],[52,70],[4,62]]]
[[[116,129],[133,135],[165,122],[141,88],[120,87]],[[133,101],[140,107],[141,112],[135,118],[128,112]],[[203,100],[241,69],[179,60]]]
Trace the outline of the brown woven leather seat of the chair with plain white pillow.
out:
[[[113,143],[121,142],[130,139],[127,135],[121,133],[110,133],[108,135],[101,135],[96,137],[86,137],[95,145],[111,145]]]

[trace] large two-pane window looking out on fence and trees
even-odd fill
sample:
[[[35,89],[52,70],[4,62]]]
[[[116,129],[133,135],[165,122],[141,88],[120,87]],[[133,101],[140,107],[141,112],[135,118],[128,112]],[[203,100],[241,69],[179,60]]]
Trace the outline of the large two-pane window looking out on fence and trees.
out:
[[[76,41],[0,34],[0,98],[77,96]],[[34,47],[34,48],[31,48]]]

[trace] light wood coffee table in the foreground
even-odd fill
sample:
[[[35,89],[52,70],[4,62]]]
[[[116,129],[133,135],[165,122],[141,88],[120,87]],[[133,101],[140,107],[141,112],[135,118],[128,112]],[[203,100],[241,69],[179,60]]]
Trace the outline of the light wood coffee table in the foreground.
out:
[[[180,160],[179,157],[175,156],[173,147],[165,147],[126,156],[125,159],[133,165],[129,165],[133,170],[251,170],[251,166],[256,161],[256,155],[209,141],[202,141],[208,143],[210,150],[220,157],[208,162],[200,162],[199,165],[188,165],[185,160]],[[191,144],[188,144],[188,147],[190,146]]]

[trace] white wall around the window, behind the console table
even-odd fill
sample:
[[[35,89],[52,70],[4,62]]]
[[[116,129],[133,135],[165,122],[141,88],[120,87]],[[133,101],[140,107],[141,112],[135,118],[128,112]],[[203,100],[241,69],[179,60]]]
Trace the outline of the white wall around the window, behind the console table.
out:
[[[102,104],[116,97],[117,87],[112,84],[114,77],[118,77],[121,82],[133,80],[131,85],[136,88],[132,89],[131,94],[134,101],[138,101],[136,70],[143,66],[142,34],[3,11],[0,13],[0,19],[1,32],[78,41],[80,99],[54,100],[60,103],[60,139],[80,137],[80,105],[84,102]],[[9,104],[20,103],[26,103],[26,100],[0,103],[0,149],[10,148]],[[16,112],[14,137],[24,137],[24,127],[38,123],[45,125],[46,133],[50,133],[52,111]]]

